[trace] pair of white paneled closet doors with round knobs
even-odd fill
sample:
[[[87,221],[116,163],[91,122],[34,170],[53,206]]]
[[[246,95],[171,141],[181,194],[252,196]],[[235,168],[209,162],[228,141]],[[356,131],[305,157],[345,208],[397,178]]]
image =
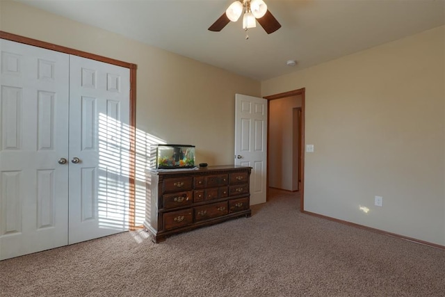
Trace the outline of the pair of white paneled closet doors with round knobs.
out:
[[[129,70],[0,42],[0,260],[128,230]]]

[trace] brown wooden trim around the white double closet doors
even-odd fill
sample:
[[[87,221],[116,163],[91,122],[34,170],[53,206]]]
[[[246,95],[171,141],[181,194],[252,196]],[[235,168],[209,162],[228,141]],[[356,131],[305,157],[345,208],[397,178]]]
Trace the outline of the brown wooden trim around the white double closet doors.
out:
[[[79,51],[77,49],[71,49],[70,47],[63,47],[60,45],[54,45],[49,42],[35,40],[33,38],[27,38],[21,35],[0,31],[0,38],[10,40],[14,42],[23,43],[25,45],[32,45],[34,47],[41,47],[43,49],[49,49],[51,51],[58,51],[64,54],[70,54],[74,56],[80,56],[82,58],[88,58],[111,65],[117,65],[130,70],[130,163],[129,163],[129,228],[130,230],[136,227],[136,70],[138,65],[133,63],[127,63],[124,61],[115,60],[113,58],[107,58],[99,56],[97,54],[91,54],[86,51]]]

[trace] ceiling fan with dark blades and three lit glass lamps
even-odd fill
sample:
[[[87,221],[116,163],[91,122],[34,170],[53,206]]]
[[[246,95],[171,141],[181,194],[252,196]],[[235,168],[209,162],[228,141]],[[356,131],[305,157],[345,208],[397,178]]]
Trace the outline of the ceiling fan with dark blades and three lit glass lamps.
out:
[[[209,31],[223,30],[230,21],[236,22],[239,17],[241,17],[241,14],[243,14],[243,29],[245,29],[245,31],[255,27],[256,21],[259,22],[268,34],[281,28],[281,24],[275,19],[272,13],[270,13],[263,0],[236,0],[230,4],[225,13],[209,27]]]

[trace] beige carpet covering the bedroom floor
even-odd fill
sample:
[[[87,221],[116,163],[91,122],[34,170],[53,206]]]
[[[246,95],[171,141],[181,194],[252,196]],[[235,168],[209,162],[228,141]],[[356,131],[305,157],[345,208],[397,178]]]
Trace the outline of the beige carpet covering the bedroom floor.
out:
[[[0,262],[0,296],[445,296],[445,250],[300,214],[273,191],[251,218],[155,244],[124,232]]]

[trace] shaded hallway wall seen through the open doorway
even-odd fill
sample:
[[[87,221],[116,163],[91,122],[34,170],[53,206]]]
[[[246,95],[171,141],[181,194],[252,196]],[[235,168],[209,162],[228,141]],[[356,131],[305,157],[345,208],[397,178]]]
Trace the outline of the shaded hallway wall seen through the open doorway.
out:
[[[269,104],[269,186],[297,190],[298,147],[294,145],[293,109],[301,106],[301,95],[271,100]],[[296,159],[296,160],[294,160]],[[296,161],[296,162],[295,162]],[[295,174],[296,173],[296,174]]]

